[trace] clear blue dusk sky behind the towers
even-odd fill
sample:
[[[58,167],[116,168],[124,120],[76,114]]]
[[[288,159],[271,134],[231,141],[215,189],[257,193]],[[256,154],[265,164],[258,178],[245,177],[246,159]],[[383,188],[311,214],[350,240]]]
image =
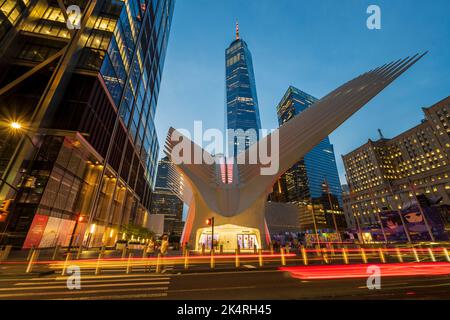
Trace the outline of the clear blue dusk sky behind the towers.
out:
[[[367,7],[381,8],[369,30]],[[450,95],[450,1],[177,0],[159,95],[156,126],[224,128],[225,49],[235,21],[253,56],[263,128],[278,127],[276,105],[289,85],[317,98],[386,62],[429,54],[330,135],[341,155],[380,128],[391,138],[420,123],[422,107]],[[162,154],[162,153],[161,153]]]

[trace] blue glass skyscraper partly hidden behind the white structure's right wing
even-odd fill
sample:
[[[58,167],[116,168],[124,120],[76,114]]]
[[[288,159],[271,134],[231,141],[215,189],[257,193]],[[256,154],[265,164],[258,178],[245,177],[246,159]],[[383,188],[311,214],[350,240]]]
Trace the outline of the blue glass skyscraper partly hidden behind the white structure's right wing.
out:
[[[317,101],[315,97],[290,86],[277,106],[279,125],[290,121]],[[310,218],[312,213],[309,211],[314,212],[319,228],[334,228],[333,219],[330,218],[332,214],[342,215],[342,191],[329,138],[323,139],[299,159],[280,177],[273,189],[270,200],[293,202],[301,206],[303,228],[310,229],[313,226]],[[314,203],[314,207],[311,203]]]

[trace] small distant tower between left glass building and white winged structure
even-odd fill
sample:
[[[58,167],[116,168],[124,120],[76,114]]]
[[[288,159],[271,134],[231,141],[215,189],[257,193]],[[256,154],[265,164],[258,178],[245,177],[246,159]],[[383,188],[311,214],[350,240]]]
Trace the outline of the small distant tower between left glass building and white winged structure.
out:
[[[175,186],[169,177],[171,165],[168,157],[162,158],[158,163],[151,213],[164,215],[165,233],[181,237],[184,227],[183,201],[172,191]]]

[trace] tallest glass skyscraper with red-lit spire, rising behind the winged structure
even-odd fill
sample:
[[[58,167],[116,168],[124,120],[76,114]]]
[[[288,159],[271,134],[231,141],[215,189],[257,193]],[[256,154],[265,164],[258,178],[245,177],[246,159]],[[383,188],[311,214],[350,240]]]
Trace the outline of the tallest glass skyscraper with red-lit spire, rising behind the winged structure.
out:
[[[225,58],[227,129],[235,133],[228,135],[228,156],[236,156],[259,140],[261,129],[252,55],[239,37],[238,24]]]

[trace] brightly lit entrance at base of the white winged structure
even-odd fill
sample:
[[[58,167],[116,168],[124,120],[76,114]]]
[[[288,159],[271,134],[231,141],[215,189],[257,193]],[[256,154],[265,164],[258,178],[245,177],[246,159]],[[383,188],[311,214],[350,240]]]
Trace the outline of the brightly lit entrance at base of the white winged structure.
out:
[[[211,232],[211,227],[197,229],[195,250],[202,250],[203,244],[206,249],[211,249]],[[223,251],[228,252],[234,252],[238,245],[241,250],[254,250],[254,247],[260,248],[261,235],[256,228],[246,228],[233,224],[214,226],[214,244],[216,249],[219,249],[222,245]]]

